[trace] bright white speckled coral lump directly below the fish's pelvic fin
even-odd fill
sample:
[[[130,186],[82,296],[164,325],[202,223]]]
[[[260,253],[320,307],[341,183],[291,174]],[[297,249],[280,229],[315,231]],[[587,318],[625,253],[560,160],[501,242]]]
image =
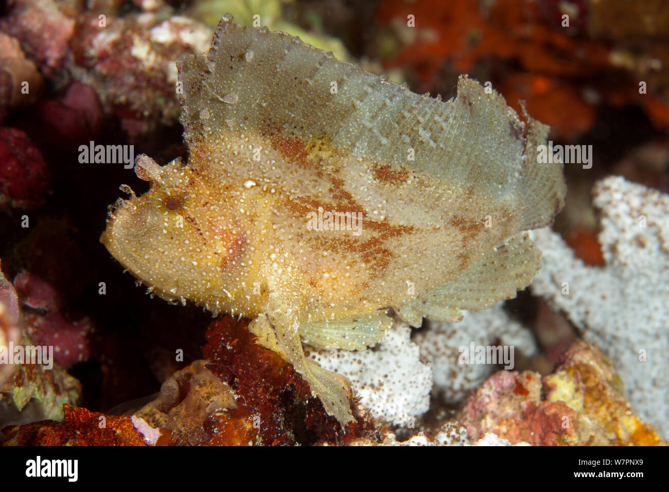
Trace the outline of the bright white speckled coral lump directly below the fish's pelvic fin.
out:
[[[317,351],[306,347],[306,355],[346,376],[376,420],[410,427],[413,417],[427,411],[432,390],[432,370],[421,362],[410,336],[409,325],[395,321],[373,349]]]

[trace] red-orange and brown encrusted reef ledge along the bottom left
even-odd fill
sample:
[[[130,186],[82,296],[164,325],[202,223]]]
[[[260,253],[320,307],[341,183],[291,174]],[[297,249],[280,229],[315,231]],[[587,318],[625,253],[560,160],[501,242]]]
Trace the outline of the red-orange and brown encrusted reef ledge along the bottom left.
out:
[[[4,444],[139,444],[142,436],[137,430],[149,444],[170,445],[379,440],[369,413],[361,407],[356,421],[341,428],[299,374],[274,351],[256,343],[246,325],[230,317],[211,323],[209,342],[203,347],[209,361],[195,361],[175,372],[163,383],[157,398],[134,411],[132,420],[131,416],[89,412],[66,404],[64,416],[42,417],[62,422],[9,426],[3,430]],[[106,428],[98,430],[102,418]],[[39,419],[30,422],[34,420]]]

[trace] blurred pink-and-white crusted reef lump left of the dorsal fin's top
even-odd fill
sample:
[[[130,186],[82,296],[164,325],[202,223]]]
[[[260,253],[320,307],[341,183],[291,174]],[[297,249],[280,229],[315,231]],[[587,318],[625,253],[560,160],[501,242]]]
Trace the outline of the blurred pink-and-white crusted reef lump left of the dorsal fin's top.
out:
[[[175,62],[185,52],[205,50],[211,29],[187,17],[153,13],[108,16],[106,22],[100,29],[98,15],[92,15],[78,23],[72,77],[94,88],[104,112],[118,118],[131,141],[174,125]]]

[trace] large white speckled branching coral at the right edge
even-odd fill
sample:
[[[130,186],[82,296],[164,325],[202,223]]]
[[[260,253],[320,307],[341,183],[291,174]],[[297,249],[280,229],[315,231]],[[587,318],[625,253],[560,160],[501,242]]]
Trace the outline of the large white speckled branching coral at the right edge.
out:
[[[632,408],[669,435],[669,195],[608,177],[595,185],[604,268],[585,266],[550,229],[532,290],[613,361]]]

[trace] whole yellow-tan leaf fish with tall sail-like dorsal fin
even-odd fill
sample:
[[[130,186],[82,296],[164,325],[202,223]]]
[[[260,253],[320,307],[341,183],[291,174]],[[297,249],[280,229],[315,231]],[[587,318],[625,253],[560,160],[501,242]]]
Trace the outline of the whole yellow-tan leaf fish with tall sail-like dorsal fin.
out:
[[[138,157],[151,189],[117,201],[101,241],[165,299],[255,318],[340,422],[348,384],[300,337],[364,349],[387,307],[456,321],[539,269],[518,233],[561,209],[562,167],[537,163],[548,127],[496,92],[463,76],[454,100],[419,96],[230,15],[177,67],[188,165]]]

